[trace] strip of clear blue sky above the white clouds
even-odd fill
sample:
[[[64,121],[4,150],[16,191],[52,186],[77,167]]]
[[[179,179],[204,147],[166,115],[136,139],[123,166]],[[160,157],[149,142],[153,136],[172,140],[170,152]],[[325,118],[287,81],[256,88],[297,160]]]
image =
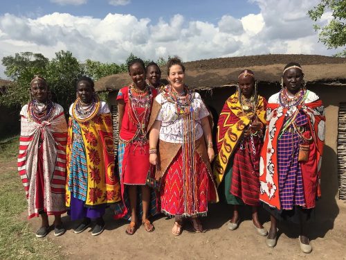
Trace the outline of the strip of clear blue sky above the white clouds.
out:
[[[111,4],[113,2],[113,4]],[[115,5],[118,4],[118,5]],[[258,13],[257,4],[244,0],[212,1],[144,1],[144,0],[12,0],[1,4],[0,14],[10,13],[24,17],[39,17],[52,12],[67,12],[75,16],[103,18],[109,12],[131,14],[137,18],[149,17],[156,23],[159,17],[183,15],[187,21],[217,22],[223,15],[241,18],[248,13]]]

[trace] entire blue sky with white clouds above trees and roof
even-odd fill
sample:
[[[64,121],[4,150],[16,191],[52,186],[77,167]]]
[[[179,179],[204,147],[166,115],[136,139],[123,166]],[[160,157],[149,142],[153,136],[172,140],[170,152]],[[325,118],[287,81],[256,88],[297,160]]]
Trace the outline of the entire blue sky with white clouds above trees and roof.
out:
[[[307,11],[318,0],[1,1],[0,59],[31,51],[83,62],[179,55],[183,61],[268,53],[333,55]],[[327,24],[331,12],[318,22]],[[0,77],[6,78],[0,64]]]

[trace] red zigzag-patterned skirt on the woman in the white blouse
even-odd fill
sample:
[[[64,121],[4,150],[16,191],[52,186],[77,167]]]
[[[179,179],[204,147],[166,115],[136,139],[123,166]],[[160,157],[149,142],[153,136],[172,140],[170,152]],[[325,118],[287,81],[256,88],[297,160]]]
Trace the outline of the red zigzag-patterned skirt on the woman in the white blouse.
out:
[[[214,190],[208,168],[195,153],[195,174],[183,173],[183,153],[180,149],[161,183],[161,211],[169,216],[206,216],[208,201]]]

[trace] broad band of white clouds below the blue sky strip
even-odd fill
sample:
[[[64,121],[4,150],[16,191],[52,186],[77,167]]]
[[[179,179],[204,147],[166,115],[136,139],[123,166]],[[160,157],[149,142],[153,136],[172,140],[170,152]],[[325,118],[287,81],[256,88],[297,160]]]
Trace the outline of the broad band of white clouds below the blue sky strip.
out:
[[[53,58],[60,50],[72,51],[80,61],[117,63],[125,62],[131,52],[151,60],[179,55],[184,61],[266,53],[336,53],[318,42],[314,22],[306,15],[317,0],[253,1],[260,13],[240,19],[225,15],[216,24],[179,14],[156,23],[111,13],[102,19],[59,12],[36,19],[0,15],[0,59],[21,51]],[[326,14],[321,25],[330,17]],[[2,71],[0,67],[0,77]]]

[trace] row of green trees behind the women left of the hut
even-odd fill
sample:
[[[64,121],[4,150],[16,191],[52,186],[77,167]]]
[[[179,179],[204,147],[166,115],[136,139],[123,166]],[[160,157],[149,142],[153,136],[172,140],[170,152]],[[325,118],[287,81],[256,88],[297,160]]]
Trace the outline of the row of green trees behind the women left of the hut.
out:
[[[104,76],[122,73],[127,71],[127,63],[136,58],[138,57],[131,53],[126,63],[119,65],[93,60],[81,63],[73,57],[71,51],[59,51],[51,60],[40,53],[31,52],[3,57],[5,74],[14,80],[14,84],[6,89],[5,95],[0,96],[0,105],[11,107],[28,103],[30,82],[35,74],[39,74],[46,78],[53,101],[62,105],[67,113],[69,105],[75,101],[75,86],[80,76],[86,75],[98,80]],[[150,60],[144,62],[148,64]],[[156,63],[162,66],[166,61],[159,58]],[[105,99],[106,94],[103,94],[102,98]]]

